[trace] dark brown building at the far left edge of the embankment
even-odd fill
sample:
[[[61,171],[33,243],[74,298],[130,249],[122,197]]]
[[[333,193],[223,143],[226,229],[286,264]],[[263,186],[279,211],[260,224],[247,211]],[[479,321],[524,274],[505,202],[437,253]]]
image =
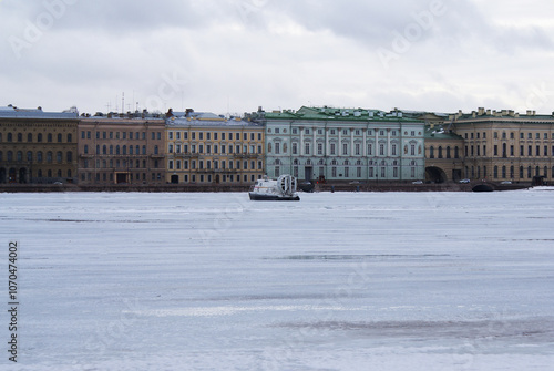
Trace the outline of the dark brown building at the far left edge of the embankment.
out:
[[[74,183],[79,113],[0,107],[0,183]]]

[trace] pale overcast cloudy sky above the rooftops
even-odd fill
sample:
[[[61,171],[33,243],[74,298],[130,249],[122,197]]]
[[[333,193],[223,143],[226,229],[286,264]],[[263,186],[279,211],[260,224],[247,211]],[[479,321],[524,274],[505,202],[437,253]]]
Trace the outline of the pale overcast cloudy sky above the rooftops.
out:
[[[552,0],[0,0],[0,106],[554,111]]]

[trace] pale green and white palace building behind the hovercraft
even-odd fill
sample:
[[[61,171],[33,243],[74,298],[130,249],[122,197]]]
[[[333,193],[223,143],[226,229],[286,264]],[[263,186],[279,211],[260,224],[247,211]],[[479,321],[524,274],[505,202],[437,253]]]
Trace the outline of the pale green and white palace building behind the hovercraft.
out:
[[[400,112],[301,107],[255,114],[266,127],[266,171],[320,181],[424,177],[424,123]]]

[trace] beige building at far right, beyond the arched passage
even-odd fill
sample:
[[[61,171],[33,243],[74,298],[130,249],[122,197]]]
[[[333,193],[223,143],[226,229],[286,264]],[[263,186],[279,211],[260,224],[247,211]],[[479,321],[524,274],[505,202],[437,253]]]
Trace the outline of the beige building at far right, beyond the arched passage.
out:
[[[470,179],[533,182],[554,176],[554,114],[479,109],[452,115],[464,140],[464,176]]]

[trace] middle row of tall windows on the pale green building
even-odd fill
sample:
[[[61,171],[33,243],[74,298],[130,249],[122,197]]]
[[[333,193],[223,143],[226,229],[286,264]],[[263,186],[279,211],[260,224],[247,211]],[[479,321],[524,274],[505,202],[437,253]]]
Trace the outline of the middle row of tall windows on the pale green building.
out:
[[[318,156],[322,156],[324,155],[324,143],[317,143],[317,150],[316,150],[316,153]],[[286,143],[283,144],[281,146],[281,143],[279,142],[275,142],[273,145],[271,143],[269,143],[267,145],[267,152],[270,154],[270,153],[274,153],[276,155],[278,154],[281,154],[281,147],[283,147],[283,153],[286,154],[287,151],[288,151],[288,146]],[[291,154],[293,155],[298,155],[298,147],[299,147],[299,144],[297,142],[293,142],[291,143]],[[373,147],[375,145],[372,143],[368,143],[367,145],[367,156],[373,156],[375,153],[373,153]],[[378,148],[379,148],[379,156],[398,156],[399,155],[399,151],[398,151],[398,144],[396,143],[392,143],[390,144],[390,147],[384,144],[384,143],[379,143],[378,145]],[[389,150],[390,148],[390,150]],[[350,155],[350,144],[348,143],[342,143],[342,147],[341,147],[341,152],[340,154],[343,155],[343,156],[349,156]],[[390,152],[390,154],[389,154]],[[404,155],[411,155],[411,156],[416,156],[416,153],[417,153],[417,145],[416,144],[410,144],[410,145],[404,145]],[[421,154],[421,146],[419,147],[419,151],[418,151],[419,154]],[[311,143],[310,142],[306,142],[304,144],[304,153],[302,155],[310,155],[311,154]],[[335,155],[338,155],[338,152],[337,152],[337,144],[336,143],[329,143],[329,155],[331,156],[335,156]],[[361,144],[360,143],[355,143],[355,146],[353,146],[353,156],[361,156],[362,153],[361,153]]]

